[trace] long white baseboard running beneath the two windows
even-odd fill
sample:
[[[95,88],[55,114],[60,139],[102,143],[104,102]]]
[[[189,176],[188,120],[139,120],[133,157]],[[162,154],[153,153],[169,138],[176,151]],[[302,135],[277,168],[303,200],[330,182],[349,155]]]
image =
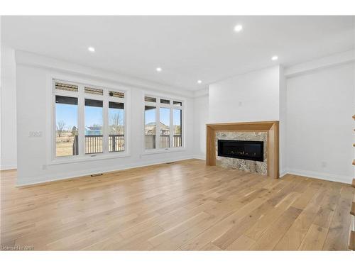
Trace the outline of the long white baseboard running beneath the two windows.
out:
[[[168,160],[151,160],[150,162],[146,163],[131,163],[127,165],[120,165],[119,167],[114,166],[107,168],[105,167],[104,169],[94,169],[94,170],[80,170],[80,171],[75,171],[71,173],[65,173],[65,176],[62,174],[56,174],[52,175],[50,177],[48,176],[43,176],[43,177],[28,177],[28,179],[31,179],[31,182],[18,182],[16,184],[16,187],[24,187],[24,186],[31,186],[33,184],[42,184],[42,183],[47,183],[47,182],[53,182],[53,181],[59,181],[59,180],[65,180],[65,179],[72,179],[72,178],[80,178],[80,177],[86,177],[91,174],[100,174],[100,173],[108,173],[108,172],[115,172],[115,171],[120,171],[120,170],[127,170],[131,168],[136,168],[136,167],[144,167],[144,166],[149,166],[149,165],[160,165],[163,163],[167,162],[178,162],[182,160],[189,160],[189,159],[194,159],[193,156],[181,156],[181,157],[176,157],[173,159],[168,159]]]

